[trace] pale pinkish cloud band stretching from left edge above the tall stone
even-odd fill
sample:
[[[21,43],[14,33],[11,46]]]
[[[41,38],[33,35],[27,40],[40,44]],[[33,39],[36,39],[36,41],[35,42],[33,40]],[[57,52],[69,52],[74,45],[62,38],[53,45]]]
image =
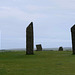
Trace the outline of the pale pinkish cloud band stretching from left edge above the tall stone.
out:
[[[33,21],[38,18],[43,18],[45,15],[40,13],[29,13],[18,8],[0,7],[0,18],[8,17],[16,17],[25,21]]]

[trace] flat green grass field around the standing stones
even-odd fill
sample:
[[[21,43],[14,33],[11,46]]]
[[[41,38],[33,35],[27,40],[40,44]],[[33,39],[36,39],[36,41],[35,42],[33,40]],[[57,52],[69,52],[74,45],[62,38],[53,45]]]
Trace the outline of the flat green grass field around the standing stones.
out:
[[[71,51],[0,52],[0,75],[75,75]]]

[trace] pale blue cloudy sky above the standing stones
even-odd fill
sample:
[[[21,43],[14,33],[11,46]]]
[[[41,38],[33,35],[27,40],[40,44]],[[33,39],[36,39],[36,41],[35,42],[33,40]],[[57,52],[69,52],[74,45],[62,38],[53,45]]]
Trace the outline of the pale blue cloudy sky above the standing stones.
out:
[[[0,0],[0,49],[26,48],[30,22],[34,47],[71,47],[75,0]]]

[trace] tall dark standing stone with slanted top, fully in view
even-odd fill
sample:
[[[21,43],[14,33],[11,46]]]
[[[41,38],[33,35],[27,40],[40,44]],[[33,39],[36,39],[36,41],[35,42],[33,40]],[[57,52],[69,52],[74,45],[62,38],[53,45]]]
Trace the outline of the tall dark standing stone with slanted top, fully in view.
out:
[[[33,22],[26,28],[26,54],[31,55],[34,50],[34,37],[33,37]]]

